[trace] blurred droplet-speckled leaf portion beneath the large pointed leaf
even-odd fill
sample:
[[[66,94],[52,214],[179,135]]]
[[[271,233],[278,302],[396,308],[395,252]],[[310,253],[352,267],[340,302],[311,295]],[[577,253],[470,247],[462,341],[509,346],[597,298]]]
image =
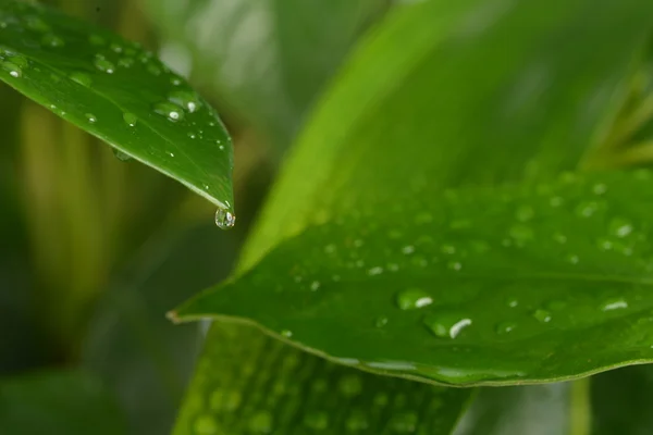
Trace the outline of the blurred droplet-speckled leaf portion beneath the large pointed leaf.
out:
[[[221,346],[197,366],[175,435],[444,435],[471,394],[361,373],[251,327],[219,324],[210,338]]]

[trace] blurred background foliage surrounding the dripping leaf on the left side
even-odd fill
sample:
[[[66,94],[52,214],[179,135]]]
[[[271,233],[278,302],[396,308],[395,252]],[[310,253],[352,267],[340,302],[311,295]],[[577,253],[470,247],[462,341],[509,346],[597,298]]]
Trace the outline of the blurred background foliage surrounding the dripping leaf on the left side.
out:
[[[156,50],[219,110],[238,225],[0,86],[0,433],[169,433],[201,334],[165,311],[226,276],[311,104],[399,2],[46,3]]]

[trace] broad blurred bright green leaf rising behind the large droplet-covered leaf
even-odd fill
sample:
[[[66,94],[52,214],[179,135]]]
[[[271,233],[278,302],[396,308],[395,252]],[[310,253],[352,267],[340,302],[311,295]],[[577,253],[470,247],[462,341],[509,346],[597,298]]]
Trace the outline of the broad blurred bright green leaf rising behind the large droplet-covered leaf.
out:
[[[652,14],[641,0],[396,10],[300,136],[244,268],[312,217],[373,197],[408,200],[424,185],[542,179],[577,167],[624,98]]]

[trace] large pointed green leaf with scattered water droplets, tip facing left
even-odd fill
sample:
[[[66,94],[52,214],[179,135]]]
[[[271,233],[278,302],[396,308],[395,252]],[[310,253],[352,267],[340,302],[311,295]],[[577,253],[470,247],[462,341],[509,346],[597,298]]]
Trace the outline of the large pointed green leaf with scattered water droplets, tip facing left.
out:
[[[652,361],[652,179],[416,192],[310,227],[176,315],[251,320],[338,362],[444,384]]]

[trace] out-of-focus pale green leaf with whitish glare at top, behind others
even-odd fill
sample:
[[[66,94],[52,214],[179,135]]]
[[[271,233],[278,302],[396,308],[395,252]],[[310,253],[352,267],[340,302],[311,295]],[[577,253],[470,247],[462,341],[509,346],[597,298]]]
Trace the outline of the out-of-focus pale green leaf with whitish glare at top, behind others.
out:
[[[145,0],[193,75],[286,148],[383,0]]]

